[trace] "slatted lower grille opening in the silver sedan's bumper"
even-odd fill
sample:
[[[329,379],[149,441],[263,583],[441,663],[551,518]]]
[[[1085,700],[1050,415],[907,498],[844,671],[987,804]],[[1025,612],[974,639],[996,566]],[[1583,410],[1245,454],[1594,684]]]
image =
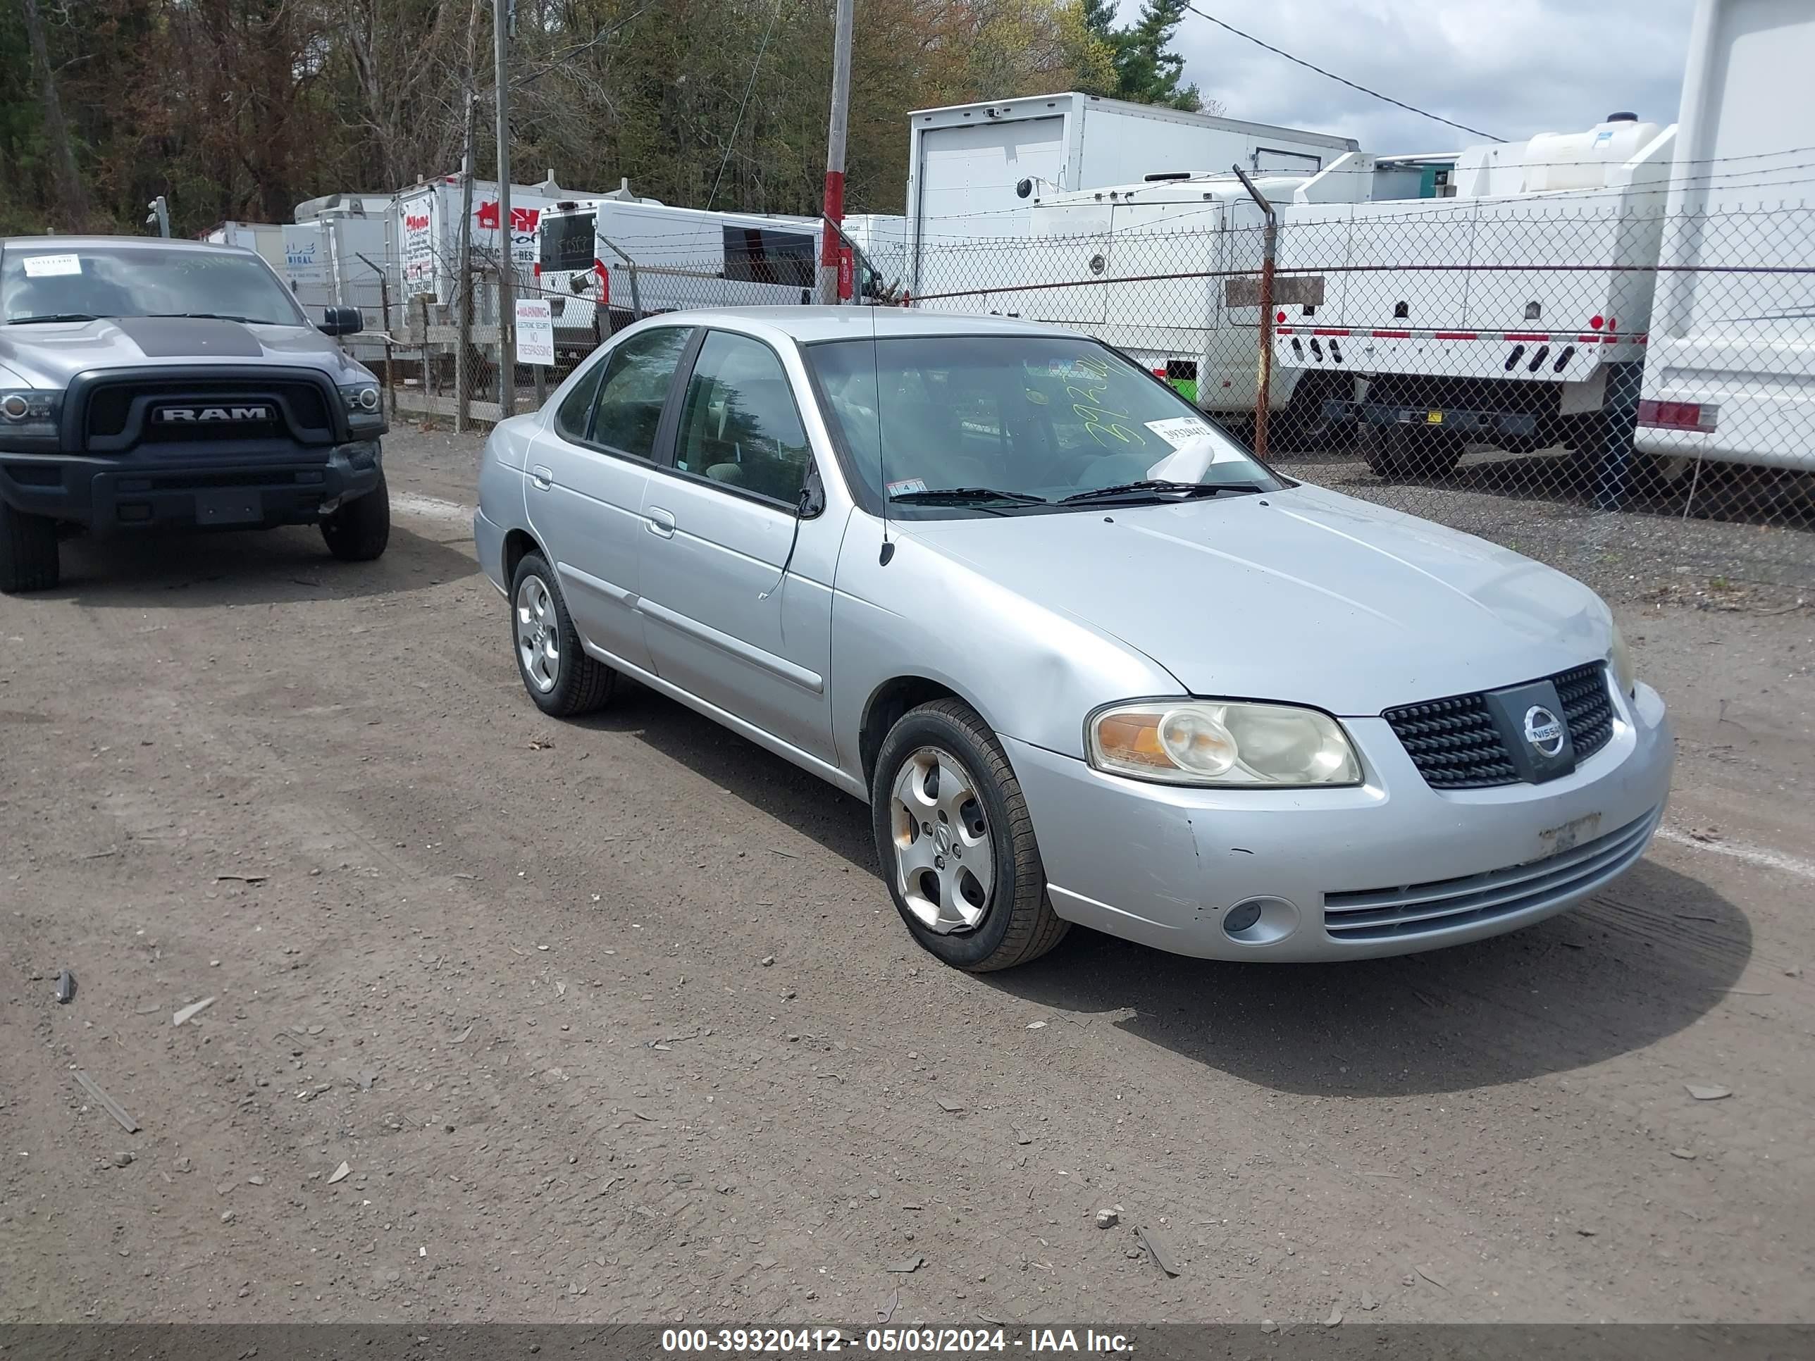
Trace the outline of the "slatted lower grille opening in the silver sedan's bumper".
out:
[[[1430,884],[1327,893],[1323,929],[1332,940],[1399,940],[1581,896],[1619,876],[1644,855],[1661,815],[1663,809],[1653,808],[1619,831],[1508,869]]]

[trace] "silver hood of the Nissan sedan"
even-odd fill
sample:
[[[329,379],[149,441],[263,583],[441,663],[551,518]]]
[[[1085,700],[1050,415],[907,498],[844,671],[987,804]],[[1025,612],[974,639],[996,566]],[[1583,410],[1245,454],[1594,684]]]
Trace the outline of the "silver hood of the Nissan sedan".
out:
[[[1314,486],[898,528],[1138,648],[1192,695],[1378,715],[1612,642],[1606,606],[1561,572]]]

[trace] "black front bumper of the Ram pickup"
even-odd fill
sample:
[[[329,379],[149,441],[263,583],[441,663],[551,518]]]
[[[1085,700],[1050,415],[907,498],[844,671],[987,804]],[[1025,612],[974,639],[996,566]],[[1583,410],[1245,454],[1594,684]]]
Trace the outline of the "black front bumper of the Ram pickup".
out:
[[[94,534],[140,528],[312,524],[323,506],[378,486],[378,439],[258,459],[163,463],[147,457],[0,452],[0,501]]]

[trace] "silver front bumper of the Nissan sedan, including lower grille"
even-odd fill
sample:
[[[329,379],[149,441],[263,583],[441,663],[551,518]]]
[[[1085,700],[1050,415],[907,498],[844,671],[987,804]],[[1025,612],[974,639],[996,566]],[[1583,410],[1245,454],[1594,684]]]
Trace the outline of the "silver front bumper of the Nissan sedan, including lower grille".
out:
[[[1176,955],[1356,960],[1514,931],[1575,906],[1644,851],[1675,760],[1650,686],[1614,737],[1548,784],[1437,791],[1385,719],[1345,719],[1352,789],[1178,789],[1004,739],[1060,916]],[[1265,900],[1232,938],[1223,916]],[[1329,900],[1327,900],[1329,898]]]

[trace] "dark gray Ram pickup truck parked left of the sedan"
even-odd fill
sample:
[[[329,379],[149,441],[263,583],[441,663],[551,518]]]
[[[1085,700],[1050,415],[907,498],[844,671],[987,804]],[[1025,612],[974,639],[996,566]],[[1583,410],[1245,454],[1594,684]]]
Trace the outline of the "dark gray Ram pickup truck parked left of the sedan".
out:
[[[0,238],[0,592],[58,581],[73,532],[319,524],[390,537],[370,370],[250,250],[131,236]]]

